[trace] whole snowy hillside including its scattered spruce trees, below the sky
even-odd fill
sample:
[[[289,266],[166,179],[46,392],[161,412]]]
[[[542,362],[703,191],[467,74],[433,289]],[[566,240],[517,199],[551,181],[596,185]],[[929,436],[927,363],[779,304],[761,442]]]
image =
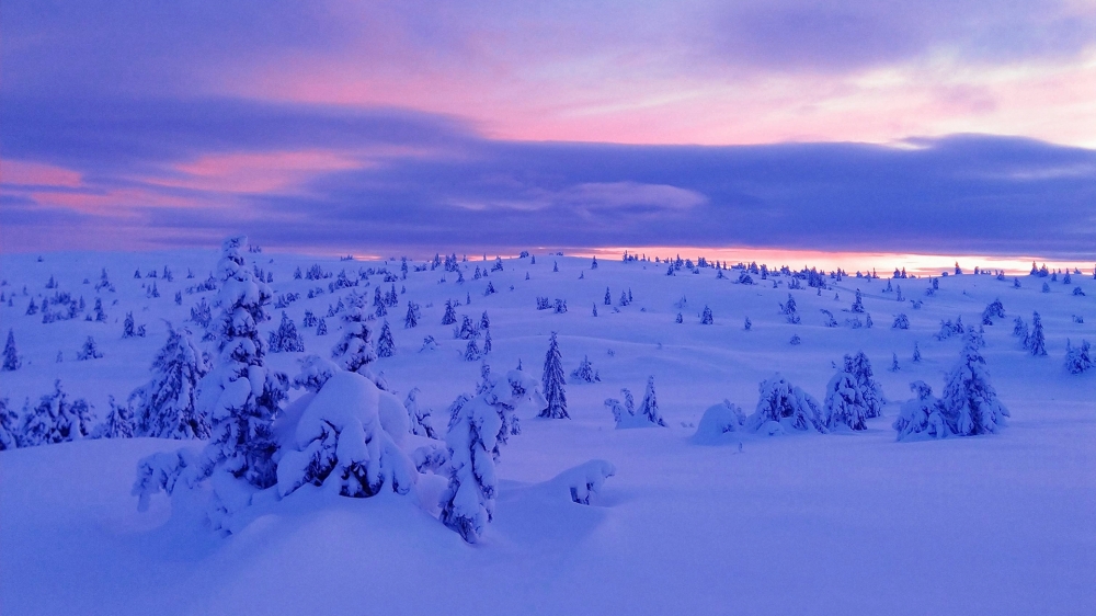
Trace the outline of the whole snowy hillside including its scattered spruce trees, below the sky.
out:
[[[3,255],[3,612],[1096,608],[1092,272],[667,256]]]

